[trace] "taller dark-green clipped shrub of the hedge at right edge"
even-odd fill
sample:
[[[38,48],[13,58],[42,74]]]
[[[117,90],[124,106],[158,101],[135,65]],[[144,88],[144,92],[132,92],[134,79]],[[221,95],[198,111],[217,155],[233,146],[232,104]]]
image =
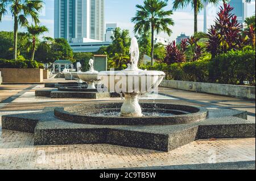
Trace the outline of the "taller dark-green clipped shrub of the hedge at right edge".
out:
[[[210,62],[210,81],[243,85],[248,81],[255,86],[255,50],[231,50]]]

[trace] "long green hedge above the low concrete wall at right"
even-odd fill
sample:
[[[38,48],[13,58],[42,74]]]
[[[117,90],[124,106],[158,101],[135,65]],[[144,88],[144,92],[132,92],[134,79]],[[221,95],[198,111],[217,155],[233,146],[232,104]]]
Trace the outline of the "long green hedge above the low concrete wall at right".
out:
[[[215,58],[206,56],[203,60],[180,64],[142,65],[142,69],[161,70],[166,79],[177,81],[224,83],[243,85],[247,81],[255,86],[255,49],[232,50]]]

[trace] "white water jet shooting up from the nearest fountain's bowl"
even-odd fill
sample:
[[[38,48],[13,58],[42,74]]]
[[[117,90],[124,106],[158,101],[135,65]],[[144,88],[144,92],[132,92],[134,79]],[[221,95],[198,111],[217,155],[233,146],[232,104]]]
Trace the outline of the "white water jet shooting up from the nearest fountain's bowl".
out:
[[[133,37],[133,39],[131,39],[130,54],[131,54],[131,70],[138,70],[139,44],[136,37]]]

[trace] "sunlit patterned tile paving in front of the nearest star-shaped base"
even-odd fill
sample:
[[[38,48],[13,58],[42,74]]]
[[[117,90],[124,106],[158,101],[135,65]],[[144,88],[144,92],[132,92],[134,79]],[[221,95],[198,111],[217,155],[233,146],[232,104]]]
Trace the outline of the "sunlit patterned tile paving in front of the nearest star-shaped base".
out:
[[[255,160],[255,138],[200,140],[164,153],[107,144],[34,146],[33,134],[0,134],[0,169],[114,169]]]

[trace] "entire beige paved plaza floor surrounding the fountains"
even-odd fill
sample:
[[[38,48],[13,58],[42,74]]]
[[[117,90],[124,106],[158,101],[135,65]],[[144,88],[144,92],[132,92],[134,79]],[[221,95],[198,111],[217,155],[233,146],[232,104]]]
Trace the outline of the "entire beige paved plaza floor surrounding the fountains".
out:
[[[49,79],[47,82],[61,81],[64,79]],[[44,85],[0,85],[0,120],[2,115],[42,111],[44,107],[121,100],[34,96],[35,90],[45,89],[48,88]],[[232,108],[247,111],[248,119],[255,121],[255,101],[252,100],[163,87],[159,93],[152,98],[143,97],[141,102]],[[255,163],[255,138],[197,140],[169,152],[107,144],[34,146],[34,134],[4,130],[0,121],[0,169],[121,169],[250,161]]]

